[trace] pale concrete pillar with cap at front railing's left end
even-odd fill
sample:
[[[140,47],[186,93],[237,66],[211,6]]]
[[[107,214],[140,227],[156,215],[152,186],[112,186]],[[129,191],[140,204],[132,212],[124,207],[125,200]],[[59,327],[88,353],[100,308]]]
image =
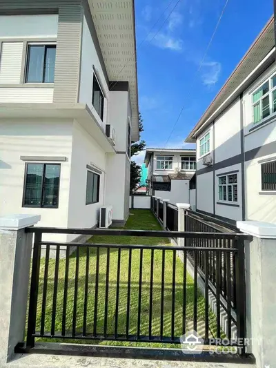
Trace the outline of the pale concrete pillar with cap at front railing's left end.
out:
[[[24,340],[32,254],[32,234],[25,228],[40,215],[0,217],[0,367]]]

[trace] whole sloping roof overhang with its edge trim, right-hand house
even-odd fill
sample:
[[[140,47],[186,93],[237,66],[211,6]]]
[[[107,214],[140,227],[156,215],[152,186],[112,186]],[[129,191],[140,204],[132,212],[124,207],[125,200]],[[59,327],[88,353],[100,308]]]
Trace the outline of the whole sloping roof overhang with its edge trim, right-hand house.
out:
[[[253,45],[222,86],[215,99],[190,132],[185,142],[195,143],[197,136],[229,106],[259,75],[275,61],[274,17],[271,17]]]

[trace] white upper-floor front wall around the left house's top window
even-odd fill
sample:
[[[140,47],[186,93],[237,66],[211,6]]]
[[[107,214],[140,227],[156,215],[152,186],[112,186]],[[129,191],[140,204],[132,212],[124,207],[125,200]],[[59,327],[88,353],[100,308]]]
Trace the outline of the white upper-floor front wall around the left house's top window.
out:
[[[20,84],[23,41],[47,41],[57,37],[58,14],[0,16],[0,103],[51,103],[53,88],[11,88]],[[20,41],[17,41],[20,39]],[[27,51],[26,51],[27,52]]]

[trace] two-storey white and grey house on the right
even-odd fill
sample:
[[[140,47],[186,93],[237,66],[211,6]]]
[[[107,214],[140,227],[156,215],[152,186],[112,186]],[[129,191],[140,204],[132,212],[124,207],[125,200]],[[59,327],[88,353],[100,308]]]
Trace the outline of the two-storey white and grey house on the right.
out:
[[[186,142],[197,143],[197,211],[276,224],[274,19],[250,47]]]

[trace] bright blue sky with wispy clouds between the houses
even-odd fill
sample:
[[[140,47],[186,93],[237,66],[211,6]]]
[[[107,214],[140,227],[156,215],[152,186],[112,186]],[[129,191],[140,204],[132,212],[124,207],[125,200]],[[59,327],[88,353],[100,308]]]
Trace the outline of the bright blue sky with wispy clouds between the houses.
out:
[[[141,138],[148,147],[184,146],[190,130],[273,14],[273,0],[262,4],[257,0],[229,0],[197,72],[226,1],[181,0],[168,17],[176,3],[135,1],[139,110],[145,130]],[[143,159],[141,153],[136,160],[141,164]]]

